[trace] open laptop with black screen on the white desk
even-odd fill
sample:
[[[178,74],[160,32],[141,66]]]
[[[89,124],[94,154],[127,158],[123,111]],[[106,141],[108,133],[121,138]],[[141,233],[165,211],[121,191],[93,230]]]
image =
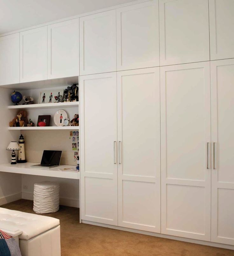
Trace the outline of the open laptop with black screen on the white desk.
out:
[[[56,150],[44,150],[41,164],[31,165],[35,168],[53,168],[59,166],[61,159],[62,151]]]

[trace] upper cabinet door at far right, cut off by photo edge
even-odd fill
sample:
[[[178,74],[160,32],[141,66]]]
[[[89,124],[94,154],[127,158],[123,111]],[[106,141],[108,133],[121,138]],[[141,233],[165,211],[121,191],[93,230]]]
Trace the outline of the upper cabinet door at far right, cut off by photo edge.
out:
[[[210,59],[234,58],[234,1],[209,0]]]

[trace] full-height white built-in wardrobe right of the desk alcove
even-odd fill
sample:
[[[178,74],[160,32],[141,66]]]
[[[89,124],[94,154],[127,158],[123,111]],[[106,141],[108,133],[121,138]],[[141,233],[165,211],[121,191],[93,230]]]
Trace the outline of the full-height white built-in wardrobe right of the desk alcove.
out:
[[[80,76],[82,220],[234,245],[233,11],[153,0],[80,19],[108,51]]]

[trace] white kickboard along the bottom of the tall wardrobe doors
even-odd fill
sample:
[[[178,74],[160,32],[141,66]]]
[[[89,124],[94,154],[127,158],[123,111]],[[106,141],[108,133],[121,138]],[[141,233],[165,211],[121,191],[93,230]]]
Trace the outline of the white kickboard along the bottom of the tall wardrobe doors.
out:
[[[184,238],[184,237],[176,237],[176,236],[171,236],[171,235],[164,235],[164,234],[160,234],[160,233],[142,231],[142,230],[133,229],[133,228],[125,228],[125,227],[119,227],[119,226],[114,226],[114,225],[102,224],[102,223],[97,223],[97,222],[88,221],[88,220],[81,220],[81,223],[95,225],[95,226],[101,226],[101,227],[107,227],[107,228],[113,228],[113,229],[117,229],[117,230],[121,230],[121,231],[139,233],[139,234],[148,235],[148,236],[168,238],[168,239],[173,239],[173,240],[178,240],[178,241],[183,241],[183,242],[188,242],[188,243],[194,243],[194,244],[199,244],[199,245],[207,245],[207,246],[214,246],[214,247],[234,250],[234,246],[233,245],[219,244],[219,243],[203,241],[203,240],[197,240],[197,239],[191,239],[191,238]]]

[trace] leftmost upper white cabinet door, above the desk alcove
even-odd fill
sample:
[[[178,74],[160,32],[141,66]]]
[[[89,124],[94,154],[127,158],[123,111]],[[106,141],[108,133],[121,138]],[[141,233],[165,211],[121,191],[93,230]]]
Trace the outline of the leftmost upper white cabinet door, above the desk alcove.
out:
[[[19,33],[0,37],[0,85],[19,83]]]

